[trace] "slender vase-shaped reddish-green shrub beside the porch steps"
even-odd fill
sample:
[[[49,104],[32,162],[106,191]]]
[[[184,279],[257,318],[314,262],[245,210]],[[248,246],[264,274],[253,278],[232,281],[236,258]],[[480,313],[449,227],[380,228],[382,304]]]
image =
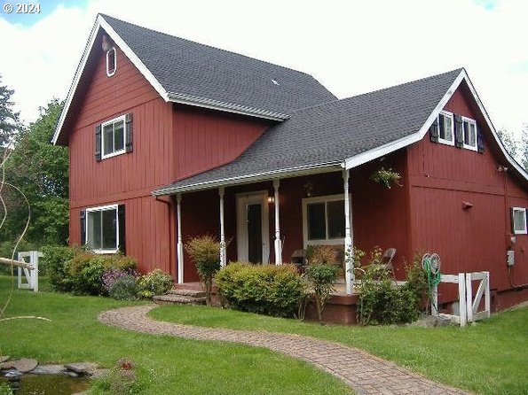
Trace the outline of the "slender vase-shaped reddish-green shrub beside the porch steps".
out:
[[[207,304],[210,305],[213,278],[220,270],[220,244],[213,236],[198,236],[185,244],[185,250],[194,260],[201,283],[205,286]]]

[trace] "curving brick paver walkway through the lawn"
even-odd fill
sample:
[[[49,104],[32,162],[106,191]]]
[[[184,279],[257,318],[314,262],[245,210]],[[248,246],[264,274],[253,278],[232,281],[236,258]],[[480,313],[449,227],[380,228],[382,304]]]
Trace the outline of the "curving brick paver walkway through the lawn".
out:
[[[220,340],[266,347],[306,360],[340,378],[359,394],[465,394],[467,392],[434,383],[392,362],[367,352],[325,340],[296,335],[212,329],[153,321],[147,313],[155,306],[122,307],[99,315],[108,325],[154,335],[195,340]]]

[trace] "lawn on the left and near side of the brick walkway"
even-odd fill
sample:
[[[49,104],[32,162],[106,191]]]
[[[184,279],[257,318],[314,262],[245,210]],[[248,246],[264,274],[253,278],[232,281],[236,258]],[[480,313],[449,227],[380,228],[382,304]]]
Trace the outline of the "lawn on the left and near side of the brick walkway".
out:
[[[11,280],[0,276],[0,308],[10,288]],[[5,317],[38,315],[51,322],[1,321],[0,354],[41,363],[92,361],[108,368],[129,358],[137,366],[141,394],[352,393],[335,377],[264,348],[145,335],[97,321],[100,312],[131,304],[15,290]]]

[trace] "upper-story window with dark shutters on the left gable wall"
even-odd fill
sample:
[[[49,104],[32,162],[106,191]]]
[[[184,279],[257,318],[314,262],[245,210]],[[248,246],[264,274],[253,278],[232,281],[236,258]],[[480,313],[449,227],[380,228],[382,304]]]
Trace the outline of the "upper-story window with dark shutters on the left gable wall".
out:
[[[132,151],[132,113],[107,120],[95,128],[95,159],[107,159]]]

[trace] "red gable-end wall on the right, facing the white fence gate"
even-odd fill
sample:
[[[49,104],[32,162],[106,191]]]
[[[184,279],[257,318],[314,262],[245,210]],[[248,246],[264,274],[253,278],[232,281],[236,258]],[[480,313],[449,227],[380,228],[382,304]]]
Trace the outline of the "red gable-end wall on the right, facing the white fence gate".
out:
[[[486,149],[478,153],[431,143],[429,134],[408,147],[411,249],[439,253],[442,273],[489,270],[491,288],[508,289],[509,206],[528,206],[528,193],[497,170],[503,163],[493,154],[491,131],[479,120],[466,87],[457,89],[445,110],[477,119]],[[465,209],[463,202],[473,206]],[[519,283],[528,283],[527,243],[528,236],[517,236],[513,270]],[[454,289],[444,293],[453,300]]]

